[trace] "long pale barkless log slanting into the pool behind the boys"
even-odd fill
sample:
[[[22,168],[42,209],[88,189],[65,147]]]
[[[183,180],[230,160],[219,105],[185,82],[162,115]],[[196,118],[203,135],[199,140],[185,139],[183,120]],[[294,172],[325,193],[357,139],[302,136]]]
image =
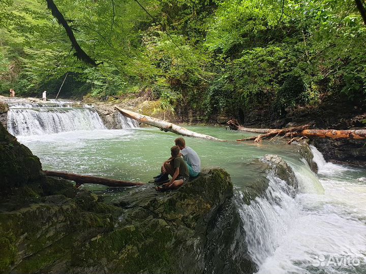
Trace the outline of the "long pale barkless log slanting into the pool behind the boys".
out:
[[[159,127],[160,130],[163,131],[170,131],[173,132],[175,134],[179,134],[179,135],[183,135],[183,136],[191,136],[191,137],[196,137],[196,138],[201,138],[201,139],[206,139],[206,140],[215,140],[215,141],[220,141],[220,142],[226,142],[226,140],[221,140],[215,137],[212,137],[210,135],[206,135],[206,134],[201,134],[201,133],[197,133],[191,130],[188,130],[187,128],[178,126],[176,124],[167,122],[167,121],[163,121],[157,118],[153,118],[147,115],[142,115],[139,114],[137,112],[133,112],[133,111],[129,111],[129,110],[125,110],[125,109],[120,109],[118,107],[114,107],[117,111],[119,111],[121,114],[134,119],[136,121],[139,121],[141,123],[144,124],[148,124],[148,125],[152,125],[152,126],[156,126]]]

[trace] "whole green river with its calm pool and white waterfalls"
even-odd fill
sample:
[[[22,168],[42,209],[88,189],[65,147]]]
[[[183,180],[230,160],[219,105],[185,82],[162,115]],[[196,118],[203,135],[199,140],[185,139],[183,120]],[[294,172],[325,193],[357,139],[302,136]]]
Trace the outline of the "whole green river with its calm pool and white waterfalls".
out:
[[[32,109],[23,112],[13,108],[9,115],[15,111],[27,116],[31,112],[32,117],[36,115]],[[60,115],[67,116],[64,113],[70,111],[73,110],[64,108]],[[92,109],[86,112],[73,113],[77,118],[64,117],[67,123],[84,126],[72,127],[72,131],[32,131],[29,124],[14,131],[11,121],[8,127],[18,133],[19,142],[40,157],[43,169],[139,182],[147,182],[159,173],[177,135],[157,128],[134,127],[131,121],[125,121],[126,129],[107,130],[99,122],[95,123],[93,119],[99,118]],[[40,115],[44,113],[37,115],[34,119],[41,119]],[[88,118],[80,118],[80,115]],[[57,117],[47,117],[43,116],[43,119],[58,121]],[[24,116],[22,119],[31,118]],[[84,119],[93,121],[85,122]],[[20,127],[19,122],[17,124]],[[47,125],[40,125],[41,129],[44,127]],[[258,265],[258,273],[366,273],[365,169],[327,163],[312,147],[319,166],[318,175],[315,175],[296,153],[296,145],[236,143],[236,139],[252,134],[224,127],[188,128],[232,141],[221,143],[186,138],[187,145],[200,155],[202,167],[220,166],[230,174],[237,210],[246,220],[247,231],[245,237],[235,241],[246,241],[249,253]],[[253,183],[258,176],[249,163],[265,154],[278,154],[287,161],[299,181],[299,190],[293,198],[283,181],[268,175],[270,183],[265,195],[246,205],[241,200],[241,188]],[[108,200],[118,199],[128,191],[128,188],[95,185],[82,187],[104,194]]]

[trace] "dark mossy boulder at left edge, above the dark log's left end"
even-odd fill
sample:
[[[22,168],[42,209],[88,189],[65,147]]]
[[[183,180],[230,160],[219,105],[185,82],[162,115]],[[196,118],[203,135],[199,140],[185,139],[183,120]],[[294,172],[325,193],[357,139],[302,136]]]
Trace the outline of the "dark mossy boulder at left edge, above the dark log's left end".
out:
[[[0,188],[10,188],[44,180],[39,158],[21,145],[0,123]]]

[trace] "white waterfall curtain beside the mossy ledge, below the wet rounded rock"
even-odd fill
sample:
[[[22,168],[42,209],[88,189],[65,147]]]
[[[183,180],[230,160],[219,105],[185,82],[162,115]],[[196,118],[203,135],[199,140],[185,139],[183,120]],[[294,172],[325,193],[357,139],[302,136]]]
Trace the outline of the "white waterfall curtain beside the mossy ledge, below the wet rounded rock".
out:
[[[291,195],[294,189],[272,173],[267,179],[267,190],[250,205],[242,203],[241,192],[236,195],[239,214],[247,232],[248,253],[257,265],[273,255],[288,230],[288,224],[299,211]]]

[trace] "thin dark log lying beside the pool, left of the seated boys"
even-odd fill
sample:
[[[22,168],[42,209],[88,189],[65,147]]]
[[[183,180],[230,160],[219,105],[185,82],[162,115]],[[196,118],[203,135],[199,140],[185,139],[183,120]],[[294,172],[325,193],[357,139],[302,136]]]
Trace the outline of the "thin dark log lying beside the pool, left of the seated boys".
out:
[[[75,181],[76,187],[79,187],[82,184],[98,184],[98,185],[105,185],[109,187],[129,187],[129,186],[141,186],[144,183],[138,182],[129,182],[129,181],[121,181],[121,180],[114,180],[108,178],[101,178],[101,177],[94,177],[88,175],[78,175],[68,172],[58,172],[53,170],[44,170],[44,173],[47,176],[54,176],[54,177],[61,177],[67,180]]]

